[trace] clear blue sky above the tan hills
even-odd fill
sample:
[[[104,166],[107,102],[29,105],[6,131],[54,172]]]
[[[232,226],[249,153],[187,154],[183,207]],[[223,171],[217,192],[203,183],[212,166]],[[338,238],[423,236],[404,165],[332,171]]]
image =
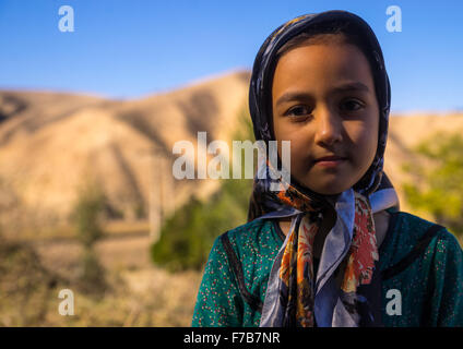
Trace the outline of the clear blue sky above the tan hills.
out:
[[[58,29],[60,5],[74,33]],[[402,32],[385,28],[389,5]],[[135,98],[237,68],[265,37],[310,12],[364,17],[382,46],[392,109],[463,109],[463,1],[0,0],[0,88]]]

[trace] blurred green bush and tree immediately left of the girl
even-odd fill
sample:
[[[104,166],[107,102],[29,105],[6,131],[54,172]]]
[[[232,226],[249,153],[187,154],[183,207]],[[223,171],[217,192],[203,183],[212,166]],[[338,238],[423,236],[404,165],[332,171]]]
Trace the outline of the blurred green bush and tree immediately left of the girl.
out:
[[[240,130],[233,139],[254,141],[246,111],[240,112]],[[241,169],[244,172],[244,166]],[[152,245],[153,262],[170,272],[201,269],[214,239],[246,222],[251,190],[252,179],[227,179],[207,202],[192,197],[166,220],[159,240]]]

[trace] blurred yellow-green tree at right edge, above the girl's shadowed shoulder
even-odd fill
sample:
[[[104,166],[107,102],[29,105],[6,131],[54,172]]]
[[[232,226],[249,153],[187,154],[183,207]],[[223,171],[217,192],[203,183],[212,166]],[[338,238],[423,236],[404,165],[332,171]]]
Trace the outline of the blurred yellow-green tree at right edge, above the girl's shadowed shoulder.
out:
[[[416,148],[420,160],[404,165],[416,180],[403,190],[409,204],[429,212],[455,234],[463,233],[463,137],[437,133]]]

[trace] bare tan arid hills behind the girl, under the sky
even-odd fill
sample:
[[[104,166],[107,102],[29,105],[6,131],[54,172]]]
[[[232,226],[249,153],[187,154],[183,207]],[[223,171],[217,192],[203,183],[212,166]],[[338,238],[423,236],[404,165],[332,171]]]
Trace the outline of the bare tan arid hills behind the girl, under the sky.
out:
[[[247,107],[249,77],[237,71],[131,100],[0,92],[0,215],[67,219],[86,183],[98,185],[109,213],[124,219],[159,214],[159,205],[169,213],[192,194],[206,197],[217,181],[175,180],[173,146],[195,145],[198,131],[207,132],[207,142],[229,142]],[[385,171],[399,191],[411,148],[437,130],[462,133],[463,115],[391,118]]]

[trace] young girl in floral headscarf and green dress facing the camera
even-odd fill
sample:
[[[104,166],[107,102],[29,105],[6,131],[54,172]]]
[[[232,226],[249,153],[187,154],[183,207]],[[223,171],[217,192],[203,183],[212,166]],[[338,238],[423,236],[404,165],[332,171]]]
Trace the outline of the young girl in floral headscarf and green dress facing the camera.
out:
[[[280,26],[249,104],[277,164],[260,164],[249,221],[215,240],[192,325],[462,326],[456,239],[400,212],[382,171],[390,84],[369,25],[329,11]],[[271,176],[282,141],[290,183]]]

